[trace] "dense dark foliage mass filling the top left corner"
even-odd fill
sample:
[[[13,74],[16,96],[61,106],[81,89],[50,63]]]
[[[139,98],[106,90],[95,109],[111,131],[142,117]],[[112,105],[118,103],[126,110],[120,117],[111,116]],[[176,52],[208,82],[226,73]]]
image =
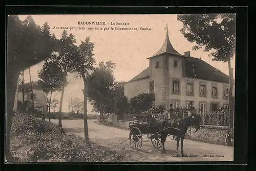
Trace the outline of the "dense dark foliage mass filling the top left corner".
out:
[[[26,69],[46,57],[53,51],[53,42],[47,23],[40,28],[33,18],[28,16],[20,21],[17,15],[8,16],[8,63],[18,70]]]

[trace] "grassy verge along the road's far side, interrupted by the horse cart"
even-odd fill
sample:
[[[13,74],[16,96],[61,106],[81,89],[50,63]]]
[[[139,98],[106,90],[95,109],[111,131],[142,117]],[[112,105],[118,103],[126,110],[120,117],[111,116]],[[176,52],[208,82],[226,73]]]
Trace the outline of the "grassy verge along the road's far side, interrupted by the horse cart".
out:
[[[100,123],[99,121],[95,121],[95,123],[104,125],[104,126],[129,130],[129,128],[124,124],[119,124],[119,123],[114,124],[112,122],[106,122],[106,121],[102,121],[102,123]],[[198,132],[196,133],[194,132],[195,132],[195,129],[192,128],[191,137],[185,136],[185,139],[192,140],[192,141],[205,142],[205,143],[226,145],[225,143],[226,130],[224,129],[202,128],[198,130]],[[187,131],[187,133],[189,134],[189,131]]]

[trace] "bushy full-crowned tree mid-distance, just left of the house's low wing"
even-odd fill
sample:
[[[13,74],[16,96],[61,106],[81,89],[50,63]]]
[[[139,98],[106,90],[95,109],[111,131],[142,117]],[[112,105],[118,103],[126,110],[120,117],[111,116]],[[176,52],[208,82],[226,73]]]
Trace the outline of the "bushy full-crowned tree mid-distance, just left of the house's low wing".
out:
[[[88,97],[93,101],[95,108],[99,108],[100,121],[102,120],[103,111],[108,110],[108,103],[111,101],[110,88],[114,82],[113,69],[115,63],[108,61],[99,63],[94,72],[88,77]],[[105,108],[105,109],[104,109]]]

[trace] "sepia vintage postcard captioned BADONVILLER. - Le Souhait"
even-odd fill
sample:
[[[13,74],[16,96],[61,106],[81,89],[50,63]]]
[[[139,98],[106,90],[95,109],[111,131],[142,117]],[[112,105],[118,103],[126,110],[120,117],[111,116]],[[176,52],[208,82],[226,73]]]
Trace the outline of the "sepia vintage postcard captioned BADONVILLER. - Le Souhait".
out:
[[[7,28],[7,162],[233,161],[236,14]]]

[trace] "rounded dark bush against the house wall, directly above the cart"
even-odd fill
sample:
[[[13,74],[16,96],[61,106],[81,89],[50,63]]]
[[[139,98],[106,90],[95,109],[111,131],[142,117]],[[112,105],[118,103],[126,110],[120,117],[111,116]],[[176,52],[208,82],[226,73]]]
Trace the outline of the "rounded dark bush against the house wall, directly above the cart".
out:
[[[135,114],[141,114],[152,107],[153,99],[150,93],[140,93],[130,100],[130,111]]]

